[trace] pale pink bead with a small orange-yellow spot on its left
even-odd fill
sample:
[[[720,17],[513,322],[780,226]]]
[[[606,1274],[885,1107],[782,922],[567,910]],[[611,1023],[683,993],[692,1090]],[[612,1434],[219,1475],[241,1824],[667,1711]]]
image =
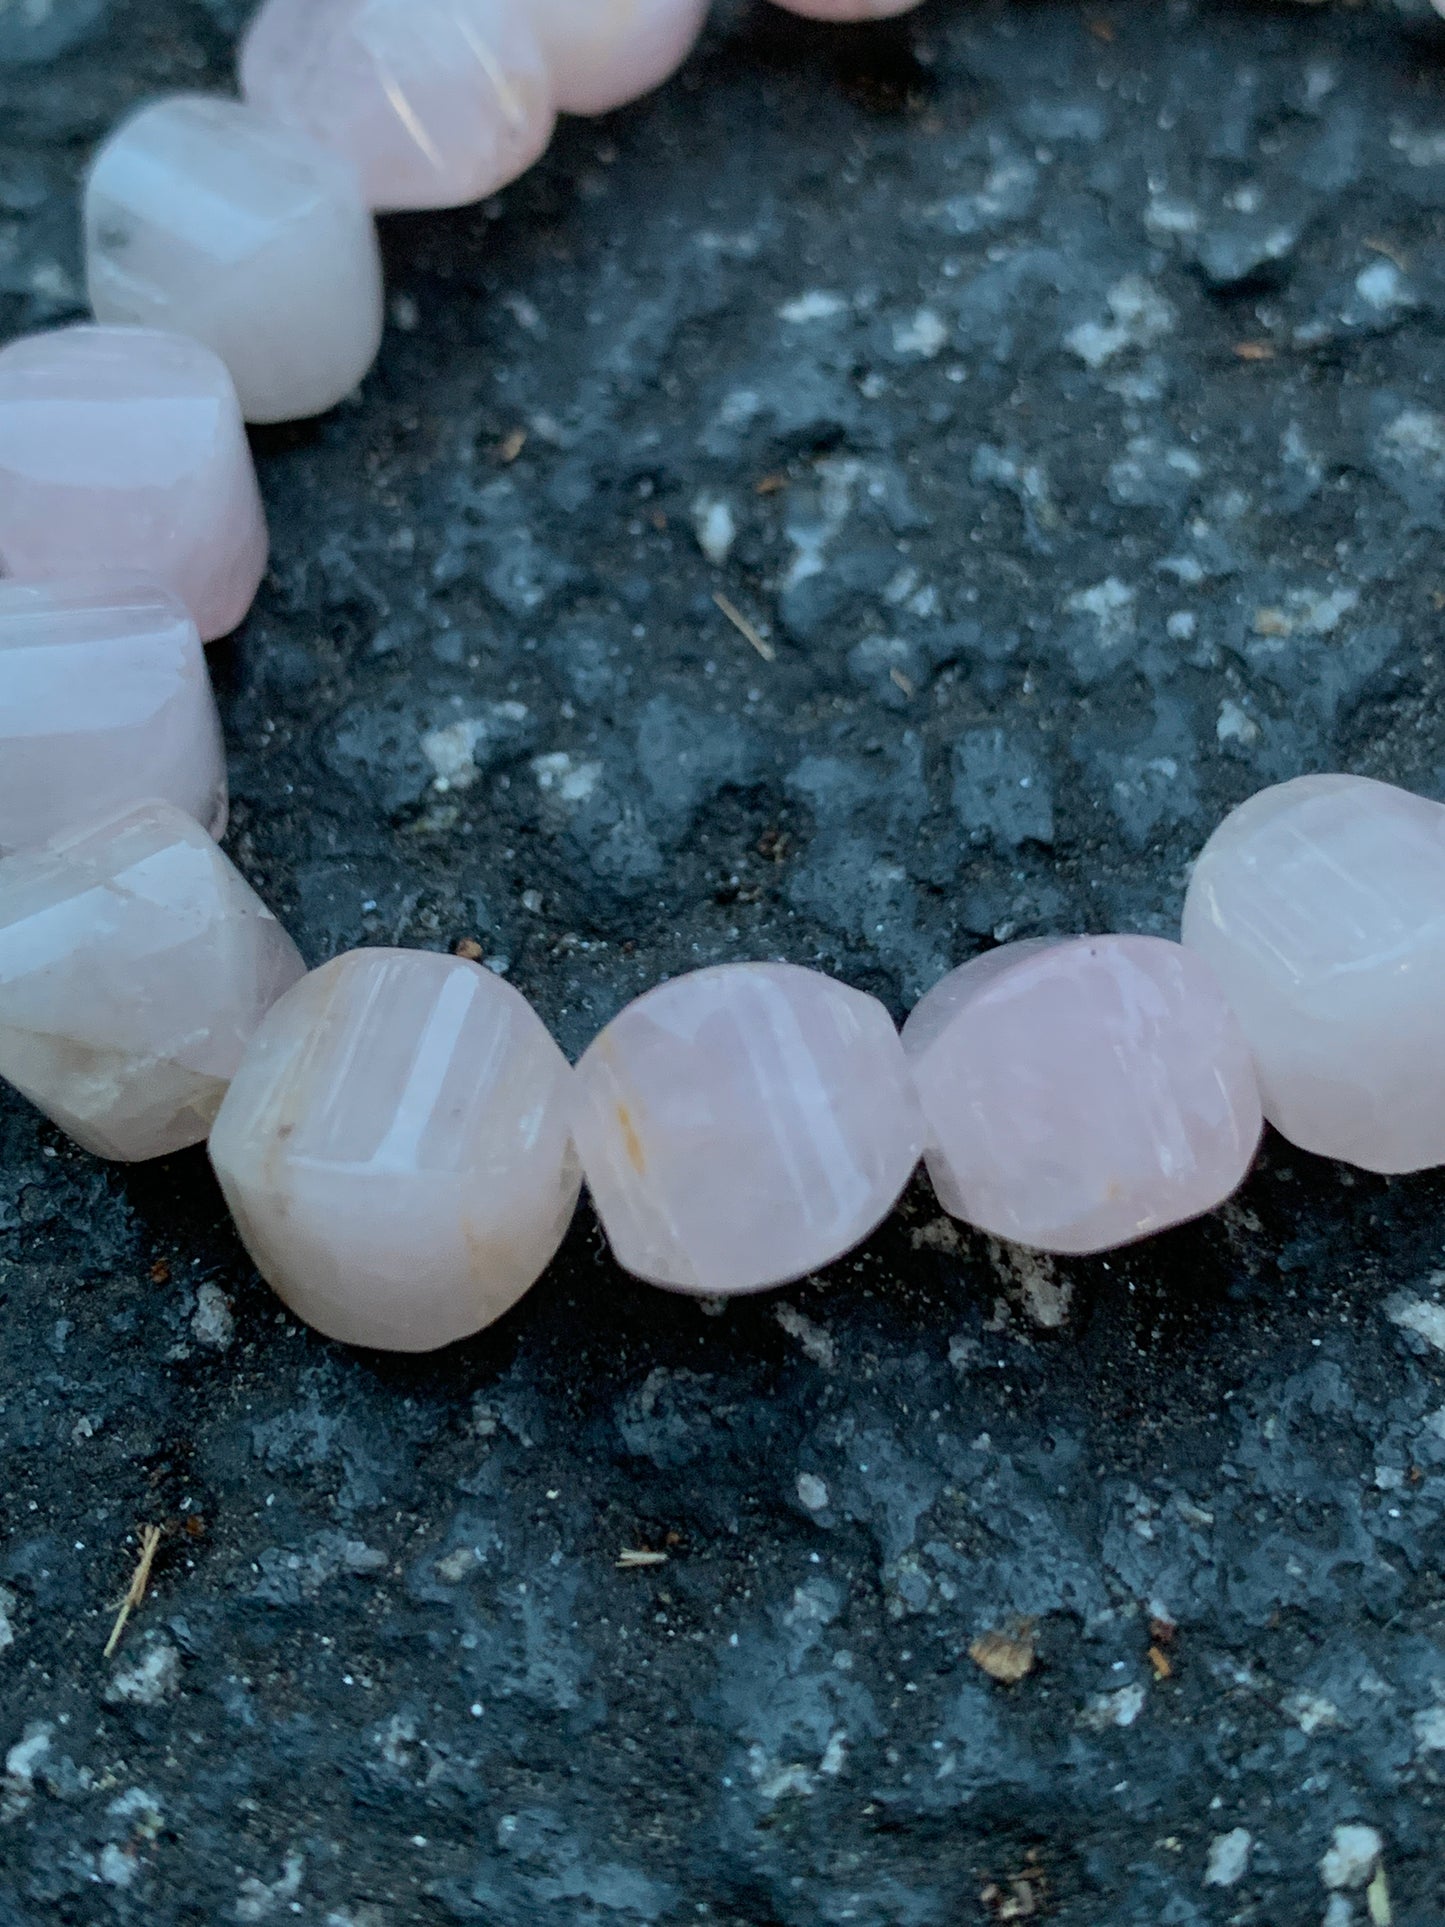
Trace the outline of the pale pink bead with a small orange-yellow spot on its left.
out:
[[[761,1291],[880,1224],[923,1120],[888,1012],[788,964],[649,990],[576,1069],[572,1133],[618,1264],[674,1291]]]

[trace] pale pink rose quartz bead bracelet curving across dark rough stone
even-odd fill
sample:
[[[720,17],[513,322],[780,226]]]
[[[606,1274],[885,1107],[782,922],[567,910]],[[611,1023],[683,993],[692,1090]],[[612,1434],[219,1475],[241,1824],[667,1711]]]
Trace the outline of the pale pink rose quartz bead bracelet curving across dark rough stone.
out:
[[[790,0],[819,19],[911,0]],[[1098,1253],[1222,1204],[1264,1120],[1374,1172],[1445,1162],[1445,807],[1302,777],[1204,848],[1183,942],[1006,944],[900,1037],[740,964],[570,1068],[457,956],[306,967],[222,854],[206,674],[266,568],[245,422],[351,393],[372,210],[489,195],[559,110],[661,83],[705,0],[268,0],[245,102],[96,156],[98,326],[0,351],[0,1073],[98,1156],[210,1154],[260,1272],[333,1337],[424,1351],[541,1276],[586,1177],[618,1262],[703,1295],[811,1274],[919,1160],[952,1216]]]

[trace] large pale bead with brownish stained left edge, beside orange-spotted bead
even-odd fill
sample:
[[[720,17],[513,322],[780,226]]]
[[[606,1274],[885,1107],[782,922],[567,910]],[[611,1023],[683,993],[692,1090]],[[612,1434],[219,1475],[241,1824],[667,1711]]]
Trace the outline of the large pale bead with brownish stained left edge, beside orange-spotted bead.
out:
[[[353,950],[262,1023],[210,1156],[260,1272],[351,1345],[432,1351],[501,1318],[563,1241],[570,1069],[491,971]]]

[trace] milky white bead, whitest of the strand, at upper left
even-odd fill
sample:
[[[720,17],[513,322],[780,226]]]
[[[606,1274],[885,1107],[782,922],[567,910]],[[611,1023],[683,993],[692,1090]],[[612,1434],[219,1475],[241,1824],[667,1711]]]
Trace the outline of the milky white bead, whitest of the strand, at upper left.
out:
[[[320,414],[381,343],[381,256],[360,179],[297,127],[183,94],[131,116],[85,195],[102,322],[195,335],[250,422]]]

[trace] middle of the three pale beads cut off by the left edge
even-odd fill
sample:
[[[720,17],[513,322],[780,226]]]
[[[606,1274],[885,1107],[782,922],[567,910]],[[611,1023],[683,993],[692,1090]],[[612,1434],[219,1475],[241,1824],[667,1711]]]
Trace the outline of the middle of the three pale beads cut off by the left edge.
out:
[[[150,796],[225,829],[197,626],[164,590],[0,580],[0,856]]]

